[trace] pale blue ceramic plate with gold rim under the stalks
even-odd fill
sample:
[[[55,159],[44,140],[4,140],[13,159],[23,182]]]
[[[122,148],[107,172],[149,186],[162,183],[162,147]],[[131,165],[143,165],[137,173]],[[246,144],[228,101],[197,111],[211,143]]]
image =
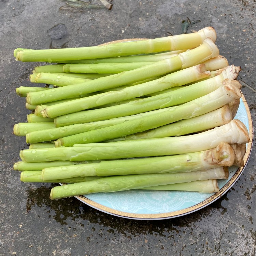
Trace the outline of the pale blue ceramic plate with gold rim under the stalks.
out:
[[[251,142],[247,144],[244,156],[245,166],[252,149],[253,123],[248,104],[242,96],[235,119],[247,127]],[[174,218],[203,207],[220,198],[238,180],[245,167],[230,167],[229,179],[219,180],[219,193],[197,193],[186,191],[128,190],[113,193],[95,193],[76,197],[91,207],[115,216],[130,219],[167,219]]]

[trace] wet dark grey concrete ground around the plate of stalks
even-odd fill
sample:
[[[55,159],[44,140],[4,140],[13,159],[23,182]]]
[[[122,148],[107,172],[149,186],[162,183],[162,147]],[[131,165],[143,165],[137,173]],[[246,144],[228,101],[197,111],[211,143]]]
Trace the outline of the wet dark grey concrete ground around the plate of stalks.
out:
[[[195,213],[161,221],[115,217],[75,198],[52,201],[49,191],[54,184],[21,183],[12,169],[19,151],[28,147],[23,137],[12,134],[13,125],[25,122],[29,114],[15,88],[31,86],[28,77],[38,64],[15,61],[17,47],[80,47],[163,37],[179,34],[182,20],[199,20],[188,32],[205,26],[216,29],[221,54],[242,67],[238,79],[255,120],[254,0],[112,3],[111,11],[59,11],[65,2],[0,1],[0,255],[255,255],[255,142],[243,174],[225,196]],[[58,24],[65,28],[59,38],[49,34]]]

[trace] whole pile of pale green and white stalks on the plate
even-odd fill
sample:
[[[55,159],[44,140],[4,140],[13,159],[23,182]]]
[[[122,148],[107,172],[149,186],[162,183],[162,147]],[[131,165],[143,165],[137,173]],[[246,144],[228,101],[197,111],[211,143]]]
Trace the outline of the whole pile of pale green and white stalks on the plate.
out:
[[[17,48],[35,86],[16,88],[32,110],[14,134],[29,149],[23,182],[65,183],[58,199],[130,189],[219,191],[244,166],[247,128],[234,119],[240,67],[206,27],[190,34],[81,48]],[[55,63],[55,64],[53,64]],[[50,84],[48,88],[40,84]]]

